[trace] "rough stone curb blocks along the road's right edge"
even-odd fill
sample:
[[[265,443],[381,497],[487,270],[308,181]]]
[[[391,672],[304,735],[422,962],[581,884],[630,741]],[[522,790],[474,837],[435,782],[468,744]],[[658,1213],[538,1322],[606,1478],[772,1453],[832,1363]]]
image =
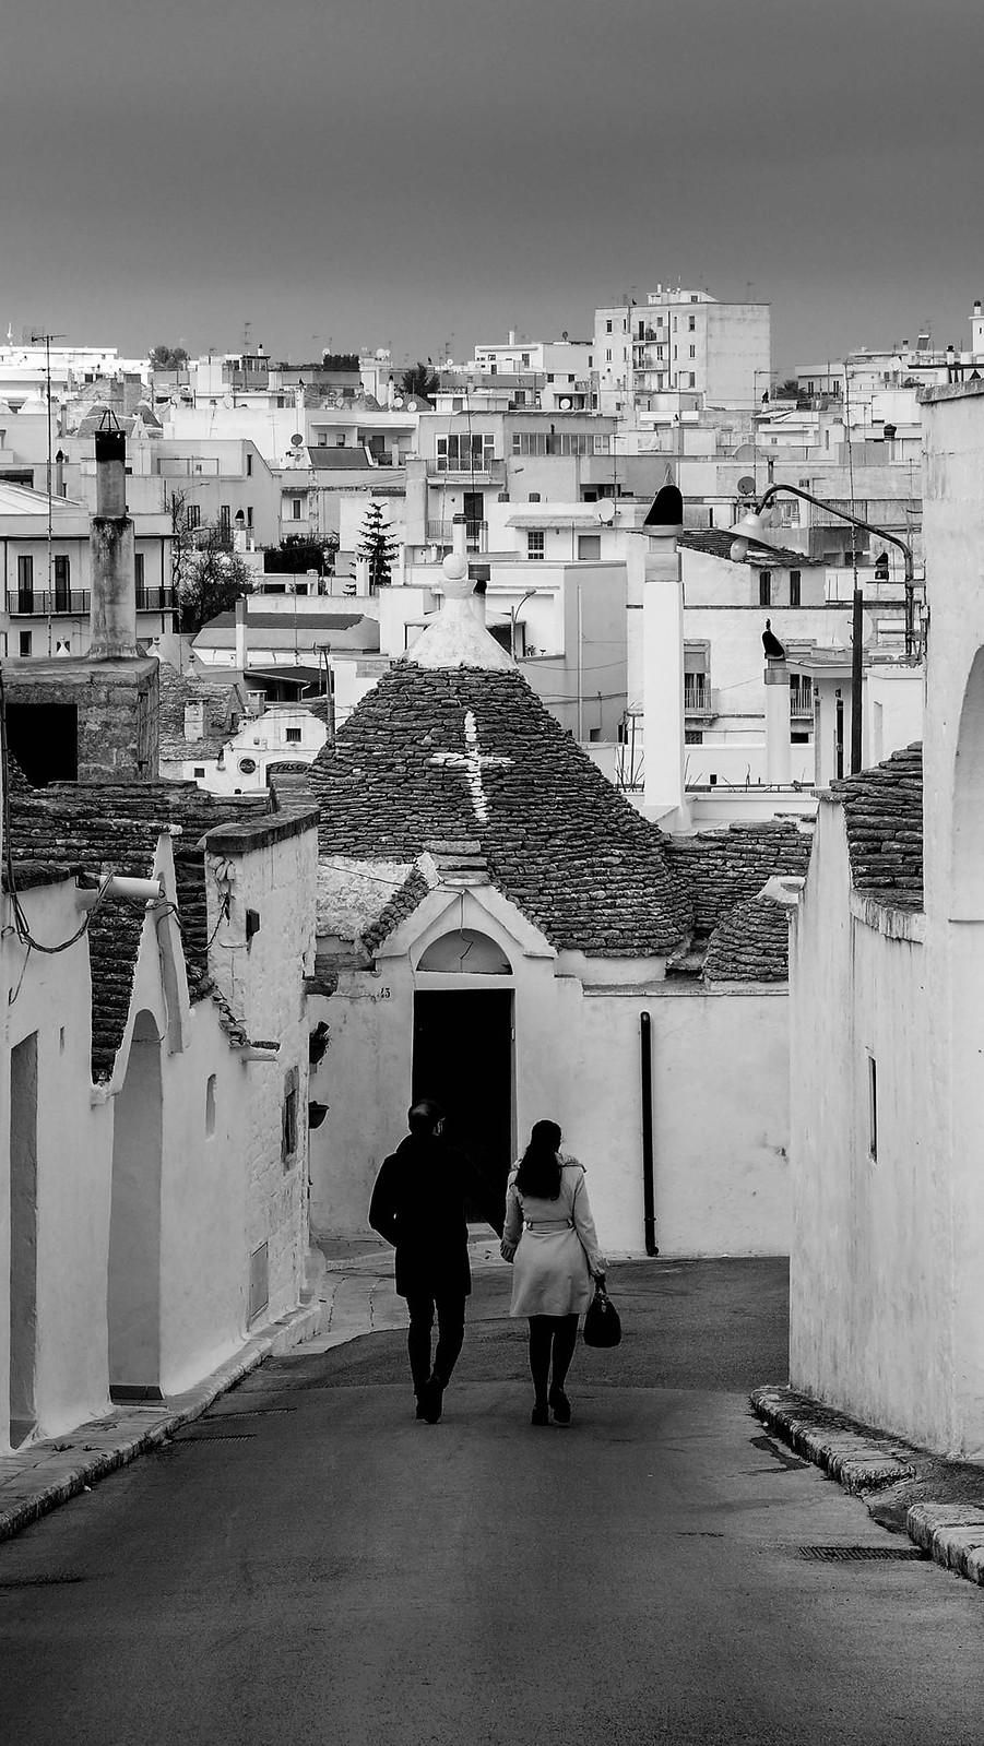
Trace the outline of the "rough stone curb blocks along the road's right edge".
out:
[[[918,1451],[900,1453],[891,1437],[872,1435],[844,1413],[823,1407],[793,1388],[755,1388],[750,1400],[769,1430],[855,1496],[916,1477],[907,1456]],[[975,1503],[912,1503],[905,1531],[944,1570],[984,1587],[984,1509]]]

